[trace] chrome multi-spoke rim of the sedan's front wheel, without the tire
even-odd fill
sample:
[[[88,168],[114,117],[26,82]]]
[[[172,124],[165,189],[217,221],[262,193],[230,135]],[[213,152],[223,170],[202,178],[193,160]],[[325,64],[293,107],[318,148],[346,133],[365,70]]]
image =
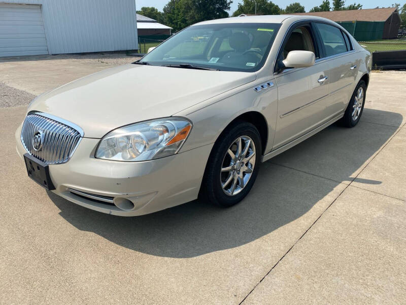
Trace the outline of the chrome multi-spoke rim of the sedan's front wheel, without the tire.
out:
[[[220,183],[225,194],[240,193],[248,184],[255,166],[255,144],[248,136],[236,138],[223,158]]]

